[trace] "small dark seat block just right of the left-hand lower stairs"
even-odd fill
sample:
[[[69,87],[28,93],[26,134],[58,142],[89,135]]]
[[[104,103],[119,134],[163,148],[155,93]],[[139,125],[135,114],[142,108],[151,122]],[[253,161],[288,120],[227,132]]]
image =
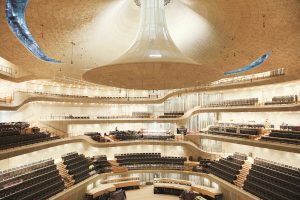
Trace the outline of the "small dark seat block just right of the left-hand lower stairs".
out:
[[[75,183],[81,182],[95,173],[92,161],[82,154],[79,155],[77,152],[63,155],[62,160],[68,173],[73,175]]]

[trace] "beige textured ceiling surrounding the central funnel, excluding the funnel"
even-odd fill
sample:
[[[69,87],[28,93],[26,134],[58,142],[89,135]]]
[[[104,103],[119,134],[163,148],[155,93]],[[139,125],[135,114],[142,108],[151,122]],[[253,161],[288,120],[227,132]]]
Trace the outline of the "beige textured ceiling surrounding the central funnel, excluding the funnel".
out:
[[[81,79],[121,56],[139,25],[133,0],[30,0],[28,27],[42,50],[63,62],[53,64],[19,42],[6,22],[5,0],[0,2],[0,56],[35,79],[57,74]],[[172,0],[166,18],[175,44],[198,63],[225,72],[272,51],[263,65],[243,74],[284,67],[285,80],[300,75],[299,0]]]

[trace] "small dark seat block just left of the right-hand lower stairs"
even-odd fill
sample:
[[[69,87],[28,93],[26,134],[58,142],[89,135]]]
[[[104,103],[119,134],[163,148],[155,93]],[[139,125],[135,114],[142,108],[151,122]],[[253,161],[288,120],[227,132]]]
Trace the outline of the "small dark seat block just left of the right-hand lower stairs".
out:
[[[236,180],[237,175],[240,173],[240,169],[244,164],[247,156],[240,153],[234,153],[227,158],[221,158],[219,161],[211,163],[209,171],[210,173],[233,183]]]

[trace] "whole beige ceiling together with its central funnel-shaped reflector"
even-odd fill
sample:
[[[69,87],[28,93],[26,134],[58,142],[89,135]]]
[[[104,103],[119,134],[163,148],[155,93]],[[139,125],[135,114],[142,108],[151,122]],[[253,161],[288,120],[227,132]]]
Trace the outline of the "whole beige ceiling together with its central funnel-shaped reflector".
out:
[[[34,42],[59,62],[30,52],[1,12],[1,66],[22,80],[63,74],[161,90],[277,68],[286,69],[283,81],[300,75],[298,0],[30,0],[24,13]]]

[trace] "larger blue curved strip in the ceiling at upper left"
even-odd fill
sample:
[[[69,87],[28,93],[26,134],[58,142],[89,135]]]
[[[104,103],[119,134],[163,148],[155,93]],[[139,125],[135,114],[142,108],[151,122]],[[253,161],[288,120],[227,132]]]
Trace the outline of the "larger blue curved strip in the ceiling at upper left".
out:
[[[32,37],[25,20],[25,10],[29,0],[6,0],[6,20],[24,46],[41,60],[61,63],[59,60],[49,58]]]

